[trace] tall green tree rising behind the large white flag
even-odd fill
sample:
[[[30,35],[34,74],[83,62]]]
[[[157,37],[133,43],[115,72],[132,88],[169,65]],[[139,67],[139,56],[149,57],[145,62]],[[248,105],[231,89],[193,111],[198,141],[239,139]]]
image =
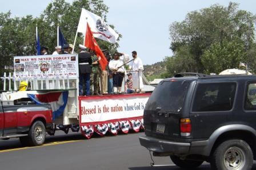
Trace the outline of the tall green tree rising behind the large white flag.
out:
[[[56,32],[59,25],[67,42],[73,44],[82,8],[101,16],[107,22],[106,14],[109,7],[102,0],[80,0],[74,1],[71,5],[65,0],[54,0],[43,11],[40,17],[41,22],[38,23],[38,27],[39,25],[40,27],[47,27],[46,31],[41,32],[41,36],[44,38],[43,43],[47,44],[50,49],[54,49],[57,44]],[[112,25],[111,27],[114,28]],[[121,38],[121,35],[119,36]],[[97,42],[102,49],[109,49],[109,51],[115,51],[119,47],[118,43],[110,44],[99,39]],[[82,43],[83,36],[79,34],[76,44]]]

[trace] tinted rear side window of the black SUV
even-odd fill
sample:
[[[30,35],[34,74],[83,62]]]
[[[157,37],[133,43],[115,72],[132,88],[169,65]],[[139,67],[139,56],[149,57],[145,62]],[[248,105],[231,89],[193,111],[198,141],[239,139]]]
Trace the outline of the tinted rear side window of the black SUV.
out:
[[[227,111],[234,103],[235,82],[198,84],[192,111]]]

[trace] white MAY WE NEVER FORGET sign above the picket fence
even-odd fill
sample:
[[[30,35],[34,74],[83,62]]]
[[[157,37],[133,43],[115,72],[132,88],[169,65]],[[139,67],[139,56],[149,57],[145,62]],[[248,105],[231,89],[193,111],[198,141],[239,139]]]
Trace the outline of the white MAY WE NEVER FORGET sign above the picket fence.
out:
[[[42,55],[14,57],[14,72],[16,76],[29,73],[31,76],[67,76],[78,78],[78,59],[74,55]]]

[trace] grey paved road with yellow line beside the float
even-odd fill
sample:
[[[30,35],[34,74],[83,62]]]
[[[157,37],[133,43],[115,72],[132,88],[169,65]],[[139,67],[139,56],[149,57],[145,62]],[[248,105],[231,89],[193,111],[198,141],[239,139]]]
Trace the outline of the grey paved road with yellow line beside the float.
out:
[[[150,167],[149,151],[139,145],[143,133],[94,136],[80,134],[46,138],[45,146],[23,148],[17,139],[0,140],[0,169],[179,169],[169,157],[153,157],[158,167]],[[254,165],[256,168],[256,166]],[[209,164],[199,169],[210,169]]]

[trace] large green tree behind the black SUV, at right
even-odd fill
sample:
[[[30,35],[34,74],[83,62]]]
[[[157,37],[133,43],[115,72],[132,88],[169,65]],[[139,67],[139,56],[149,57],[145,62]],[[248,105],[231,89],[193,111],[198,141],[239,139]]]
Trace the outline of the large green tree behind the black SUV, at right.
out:
[[[174,56],[167,62],[173,64],[168,73],[218,73],[238,67],[239,61],[255,60],[255,21],[255,15],[231,2],[228,7],[213,5],[188,13],[185,20],[170,25]]]

